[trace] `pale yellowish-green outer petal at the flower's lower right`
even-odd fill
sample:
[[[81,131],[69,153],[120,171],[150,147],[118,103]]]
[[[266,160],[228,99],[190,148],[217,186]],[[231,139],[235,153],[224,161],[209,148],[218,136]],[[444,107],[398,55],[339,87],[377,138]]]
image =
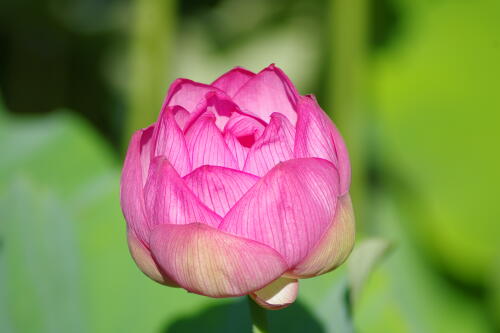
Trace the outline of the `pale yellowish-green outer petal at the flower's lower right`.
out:
[[[316,248],[287,275],[305,278],[329,272],[340,266],[354,246],[354,213],[351,197],[339,199],[337,212]]]

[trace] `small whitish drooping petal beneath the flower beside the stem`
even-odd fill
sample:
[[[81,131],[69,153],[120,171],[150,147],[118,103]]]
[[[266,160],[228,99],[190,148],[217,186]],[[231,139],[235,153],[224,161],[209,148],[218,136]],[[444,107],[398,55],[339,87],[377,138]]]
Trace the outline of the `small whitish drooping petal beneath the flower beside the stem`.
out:
[[[295,302],[298,292],[298,280],[280,277],[264,288],[251,293],[250,296],[266,309],[279,310]]]

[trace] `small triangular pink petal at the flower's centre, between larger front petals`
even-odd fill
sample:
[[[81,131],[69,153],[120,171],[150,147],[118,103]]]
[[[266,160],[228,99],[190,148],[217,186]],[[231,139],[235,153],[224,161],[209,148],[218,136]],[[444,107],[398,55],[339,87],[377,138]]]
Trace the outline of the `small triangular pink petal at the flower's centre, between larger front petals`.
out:
[[[259,178],[234,169],[206,165],[184,180],[207,207],[224,216]]]

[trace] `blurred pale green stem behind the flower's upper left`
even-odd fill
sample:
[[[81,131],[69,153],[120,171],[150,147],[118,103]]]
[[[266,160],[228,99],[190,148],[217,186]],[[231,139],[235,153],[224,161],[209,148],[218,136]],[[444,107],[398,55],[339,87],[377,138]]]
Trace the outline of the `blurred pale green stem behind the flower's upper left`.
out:
[[[153,123],[169,84],[176,0],[135,0],[131,22],[130,81],[125,144]]]

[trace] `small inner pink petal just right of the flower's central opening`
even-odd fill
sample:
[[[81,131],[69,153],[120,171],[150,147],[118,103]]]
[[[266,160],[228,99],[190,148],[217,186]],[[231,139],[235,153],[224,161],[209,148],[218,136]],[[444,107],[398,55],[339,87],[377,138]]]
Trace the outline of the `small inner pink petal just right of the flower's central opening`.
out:
[[[292,159],[295,128],[280,113],[271,115],[271,122],[250,149],[243,170],[257,176],[265,175],[276,164]]]

